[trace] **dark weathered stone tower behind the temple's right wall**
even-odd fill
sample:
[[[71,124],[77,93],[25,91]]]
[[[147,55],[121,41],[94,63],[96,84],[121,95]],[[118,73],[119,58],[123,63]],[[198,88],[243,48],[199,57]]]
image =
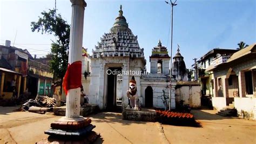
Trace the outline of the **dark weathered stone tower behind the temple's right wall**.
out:
[[[177,81],[187,81],[187,70],[184,57],[179,52],[179,46],[172,62],[172,75]]]

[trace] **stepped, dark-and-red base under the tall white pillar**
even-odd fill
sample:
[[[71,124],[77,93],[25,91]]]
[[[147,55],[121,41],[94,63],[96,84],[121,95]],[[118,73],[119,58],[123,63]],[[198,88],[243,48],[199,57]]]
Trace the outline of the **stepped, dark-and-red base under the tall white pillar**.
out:
[[[95,127],[95,125],[91,124],[91,119],[89,118],[62,117],[51,123],[50,129],[44,131],[45,134],[50,135],[49,138],[37,143],[63,143],[69,141],[77,143],[91,143],[100,136],[100,134],[92,131]]]

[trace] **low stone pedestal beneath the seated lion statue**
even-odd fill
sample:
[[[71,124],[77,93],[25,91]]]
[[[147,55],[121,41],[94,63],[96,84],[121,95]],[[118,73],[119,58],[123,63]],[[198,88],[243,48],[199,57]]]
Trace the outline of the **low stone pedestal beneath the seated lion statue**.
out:
[[[122,111],[122,119],[124,120],[136,120],[136,121],[157,121],[157,113],[153,109],[145,109],[142,110],[132,110],[132,109],[124,109]]]

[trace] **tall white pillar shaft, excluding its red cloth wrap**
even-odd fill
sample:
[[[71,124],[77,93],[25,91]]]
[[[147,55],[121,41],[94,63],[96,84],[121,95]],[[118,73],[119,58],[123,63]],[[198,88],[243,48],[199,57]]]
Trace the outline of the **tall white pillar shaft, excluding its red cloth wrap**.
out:
[[[84,28],[84,0],[70,0],[72,3],[72,18],[69,44],[69,63],[82,61],[82,44]],[[70,89],[66,96],[66,118],[79,118],[80,88]]]

